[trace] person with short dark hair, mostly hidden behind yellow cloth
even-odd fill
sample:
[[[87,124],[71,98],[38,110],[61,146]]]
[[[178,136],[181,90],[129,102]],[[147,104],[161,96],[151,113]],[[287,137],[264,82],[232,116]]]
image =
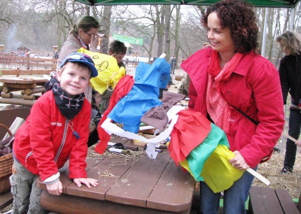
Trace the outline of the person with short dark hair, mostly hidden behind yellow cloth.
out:
[[[122,60],[123,60],[123,57],[126,54],[126,49],[127,48],[124,45],[124,43],[120,42],[118,40],[113,40],[109,44],[108,54],[110,56],[113,56],[117,60],[117,64],[118,64],[119,68],[121,66],[125,68],[125,65],[122,62]],[[112,94],[113,94],[112,88],[107,89],[106,91],[104,91],[101,94],[101,99],[102,99],[101,102],[100,102],[100,106],[101,106],[100,112],[101,112],[101,114],[103,114],[107,110]]]

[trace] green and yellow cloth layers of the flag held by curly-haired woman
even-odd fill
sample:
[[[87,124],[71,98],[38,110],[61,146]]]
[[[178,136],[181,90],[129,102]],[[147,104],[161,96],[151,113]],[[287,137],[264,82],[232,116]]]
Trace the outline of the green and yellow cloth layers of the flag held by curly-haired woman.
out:
[[[228,162],[235,155],[228,149],[225,133],[214,124],[211,127],[207,138],[179,163],[195,180],[204,181],[216,193],[232,186],[244,171]]]

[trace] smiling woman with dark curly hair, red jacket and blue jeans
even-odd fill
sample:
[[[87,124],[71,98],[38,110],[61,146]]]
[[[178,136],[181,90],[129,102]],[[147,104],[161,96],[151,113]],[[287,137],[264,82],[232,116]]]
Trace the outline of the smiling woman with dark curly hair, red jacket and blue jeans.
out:
[[[229,160],[239,170],[267,159],[281,135],[284,117],[276,68],[256,54],[258,28],[252,7],[224,0],[203,17],[212,49],[202,49],[182,63],[191,78],[189,109],[201,112],[227,135]],[[258,125],[257,125],[258,124]],[[224,191],[224,213],[245,213],[253,176],[244,172]],[[216,213],[220,193],[200,182],[201,213]]]

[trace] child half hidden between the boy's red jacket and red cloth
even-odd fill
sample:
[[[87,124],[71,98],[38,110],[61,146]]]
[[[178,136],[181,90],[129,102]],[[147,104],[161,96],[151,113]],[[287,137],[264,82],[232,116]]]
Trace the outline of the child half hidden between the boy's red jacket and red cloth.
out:
[[[95,124],[94,131],[90,134],[89,140],[88,140],[88,147],[94,145],[99,140],[98,138],[98,132],[97,132],[97,126],[101,119],[101,113],[99,110],[99,104],[101,101],[100,93],[96,90],[92,90],[92,103],[91,103],[91,121]]]

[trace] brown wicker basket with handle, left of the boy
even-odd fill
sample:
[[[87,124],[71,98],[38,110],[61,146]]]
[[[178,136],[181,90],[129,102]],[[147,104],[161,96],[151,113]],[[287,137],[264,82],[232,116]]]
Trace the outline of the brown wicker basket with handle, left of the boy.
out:
[[[4,127],[9,135],[12,135],[12,132],[7,126],[0,124],[0,127]],[[0,193],[6,192],[11,188],[10,176],[13,174],[13,163],[13,153],[0,157]]]

